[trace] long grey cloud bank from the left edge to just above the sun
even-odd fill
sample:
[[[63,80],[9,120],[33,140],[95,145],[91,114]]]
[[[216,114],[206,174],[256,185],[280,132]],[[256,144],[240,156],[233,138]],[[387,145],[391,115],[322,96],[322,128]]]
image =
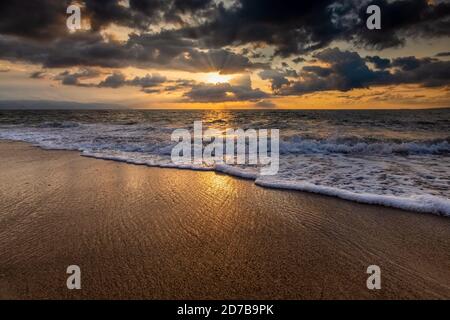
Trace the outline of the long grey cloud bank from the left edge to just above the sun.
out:
[[[0,35],[0,58],[46,68],[136,66],[235,73],[266,66],[225,49],[200,51],[193,41],[179,39],[172,33],[132,35],[125,43],[104,39],[94,32],[80,32],[48,43]]]

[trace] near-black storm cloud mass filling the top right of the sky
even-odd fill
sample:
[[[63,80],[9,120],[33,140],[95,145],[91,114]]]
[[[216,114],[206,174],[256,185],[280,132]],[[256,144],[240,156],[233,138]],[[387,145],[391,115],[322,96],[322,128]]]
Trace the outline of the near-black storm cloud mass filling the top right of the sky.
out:
[[[370,4],[381,8],[381,30],[366,27]],[[321,49],[333,40],[381,49],[402,45],[408,37],[450,35],[450,4],[426,0],[240,0],[230,9],[219,6],[214,19],[184,32],[216,47],[265,43],[282,57]]]

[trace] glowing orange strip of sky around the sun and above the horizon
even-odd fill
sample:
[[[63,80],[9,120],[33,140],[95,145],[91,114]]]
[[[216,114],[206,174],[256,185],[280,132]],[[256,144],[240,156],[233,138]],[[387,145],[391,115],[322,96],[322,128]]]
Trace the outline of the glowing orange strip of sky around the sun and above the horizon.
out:
[[[449,87],[427,88],[420,85],[374,86],[371,88],[353,89],[346,92],[320,91],[299,96],[272,95],[260,100],[225,102],[192,102],[185,92],[189,88],[180,87],[175,91],[164,91],[164,86],[154,93],[146,93],[132,86],[120,88],[97,88],[62,85],[52,79],[63,69],[47,70],[47,75],[40,80],[31,79],[30,73],[39,70],[29,64],[0,61],[0,96],[3,100],[56,100],[81,103],[113,103],[136,109],[426,109],[448,107],[450,101]],[[74,69],[76,72],[77,69]],[[99,75],[100,81],[108,72]],[[144,70],[123,68],[121,72],[127,79],[146,74],[161,74],[167,79],[191,79],[198,83],[220,85],[239,83],[246,75],[250,76],[253,89],[260,89],[270,94],[270,83],[258,77],[257,72],[248,74],[227,74],[219,72],[190,73],[183,71]],[[245,79],[244,79],[245,80]],[[86,83],[93,80],[82,80]],[[245,83],[245,81],[243,81]],[[266,100],[267,107],[258,102]],[[272,107],[271,107],[272,106]]]

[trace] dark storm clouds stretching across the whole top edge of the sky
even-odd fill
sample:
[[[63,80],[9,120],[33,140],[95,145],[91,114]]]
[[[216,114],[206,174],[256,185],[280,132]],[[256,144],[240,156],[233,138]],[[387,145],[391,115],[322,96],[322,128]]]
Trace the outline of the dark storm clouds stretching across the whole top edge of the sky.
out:
[[[404,43],[406,37],[450,34],[450,4],[442,1],[238,0],[231,7],[212,0],[130,0],[129,6],[119,0],[79,2],[94,31],[112,23],[148,30],[159,23],[179,21],[183,27],[173,31],[178,39],[198,40],[208,48],[265,43],[284,57],[324,48],[333,40],[386,48]],[[70,3],[2,1],[0,34],[34,39],[64,36]],[[381,8],[381,30],[365,26],[369,4]],[[200,18],[204,21],[197,25]]]

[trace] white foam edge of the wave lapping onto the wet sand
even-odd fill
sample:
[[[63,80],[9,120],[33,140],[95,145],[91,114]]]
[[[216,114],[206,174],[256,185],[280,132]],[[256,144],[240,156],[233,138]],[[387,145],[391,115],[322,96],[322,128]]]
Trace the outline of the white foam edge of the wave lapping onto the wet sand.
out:
[[[161,168],[161,169],[179,169],[179,170],[192,170],[199,172],[215,172],[229,175],[233,178],[245,179],[252,181],[255,185],[269,188],[269,189],[278,189],[278,190],[288,190],[288,191],[297,191],[297,192],[307,192],[319,194],[327,197],[339,198],[341,200],[350,201],[354,203],[362,203],[368,205],[377,205],[383,206],[386,208],[394,208],[404,211],[410,211],[415,213],[422,214],[433,214],[442,217],[450,217],[450,200],[445,199],[444,197],[438,197],[433,195],[419,195],[413,197],[400,197],[393,195],[378,195],[378,194],[370,194],[370,193],[357,193],[352,192],[350,190],[339,189],[335,187],[329,186],[318,186],[308,182],[289,182],[289,181],[277,181],[270,182],[258,179],[257,174],[239,171],[233,167],[227,165],[218,165],[212,168],[196,168],[193,166],[171,166],[171,165],[152,165],[139,161],[132,161],[130,159],[122,159],[113,156],[105,156],[105,155],[96,155],[95,153],[86,153],[80,150],[72,150],[72,149],[52,149],[40,146],[38,144],[34,144],[26,141],[17,141],[17,140],[7,140],[0,139],[1,142],[17,142],[17,143],[26,143],[33,147],[40,148],[46,151],[69,151],[69,152],[77,152],[79,156],[86,158],[93,158],[99,160],[106,161],[114,161],[120,163],[126,163],[130,165],[138,165],[138,166],[146,166],[149,168]]]

